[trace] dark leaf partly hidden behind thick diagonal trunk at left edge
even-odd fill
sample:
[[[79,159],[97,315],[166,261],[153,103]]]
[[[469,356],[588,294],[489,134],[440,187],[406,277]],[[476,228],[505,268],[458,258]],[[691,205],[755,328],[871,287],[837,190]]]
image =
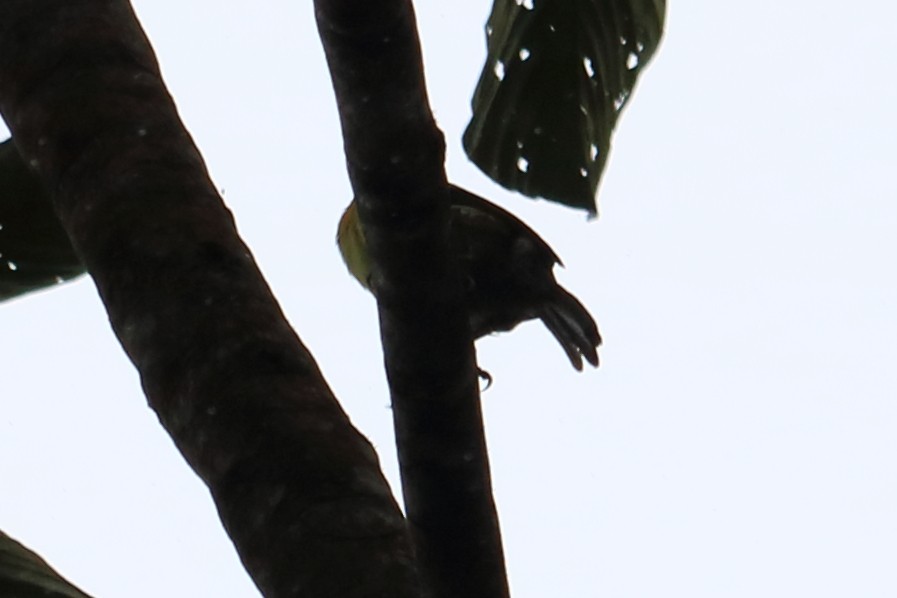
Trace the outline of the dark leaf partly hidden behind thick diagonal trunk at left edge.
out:
[[[37,176],[12,139],[0,143],[0,301],[83,273]]]

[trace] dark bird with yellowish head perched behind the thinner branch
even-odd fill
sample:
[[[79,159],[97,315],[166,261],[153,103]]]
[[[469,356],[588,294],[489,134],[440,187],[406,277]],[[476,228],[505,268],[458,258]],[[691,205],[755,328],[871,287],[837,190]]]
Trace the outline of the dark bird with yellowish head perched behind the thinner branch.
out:
[[[470,191],[450,185],[449,199],[449,249],[466,282],[474,339],[538,318],[577,371],[582,371],[583,359],[598,367],[598,326],[558,284],[554,266],[563,263],[548,243],[516,216]],[[376,295],[354,199],[340,218],[336,241],[349,273]]]

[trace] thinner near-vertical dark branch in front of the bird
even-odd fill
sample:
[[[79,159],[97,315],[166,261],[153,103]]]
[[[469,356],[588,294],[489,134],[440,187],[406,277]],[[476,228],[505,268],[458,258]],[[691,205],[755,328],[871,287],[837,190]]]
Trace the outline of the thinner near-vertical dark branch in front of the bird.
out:
[[[508,596],[444,142],[410,0],[316,0],[349,177],[373,258],[406,511],[437,597]]]

